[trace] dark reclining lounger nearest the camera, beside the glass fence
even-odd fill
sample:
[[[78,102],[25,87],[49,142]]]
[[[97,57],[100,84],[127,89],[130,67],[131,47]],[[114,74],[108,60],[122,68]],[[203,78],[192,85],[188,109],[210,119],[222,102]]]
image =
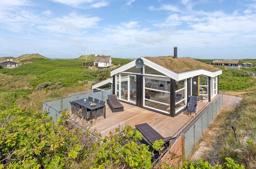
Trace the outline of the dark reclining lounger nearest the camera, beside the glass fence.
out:
[[[143,142],[150,146],[155,142],[155,140],[162,139],[165,146],[169,146],[169,141],[175,139],[176,137],[163,137],[158,132],[156,132],[148,123],[142,123],[135,125],[136,130],[141,132]]]

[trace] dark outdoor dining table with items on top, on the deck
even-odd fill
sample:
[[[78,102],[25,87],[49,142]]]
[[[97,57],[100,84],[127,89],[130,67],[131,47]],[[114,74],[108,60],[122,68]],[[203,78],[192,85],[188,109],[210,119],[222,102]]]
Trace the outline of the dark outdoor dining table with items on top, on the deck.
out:
[[[91,116],[92,116],[92,111],[95,110],[96,111],[96,117],[97,117],[97,109],[104,108],[104,118],[106,118],[106,105],[105,104],[101,104],[99,102],[89,100],[88,98],[86,99],[86,102],[84,101],[84,99],[75,100],[73,102],[76,103],[76,104],[81,105],[84,108],[89,109],[90,113],[91,113]],[[91,103],[95,103],[96,105],[91,106],[90,105]]]

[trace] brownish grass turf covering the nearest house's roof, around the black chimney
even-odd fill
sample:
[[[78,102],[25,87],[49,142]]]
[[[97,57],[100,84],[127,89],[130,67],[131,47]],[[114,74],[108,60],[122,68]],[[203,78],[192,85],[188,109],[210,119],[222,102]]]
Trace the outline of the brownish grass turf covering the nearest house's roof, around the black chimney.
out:
[[[174,59],[171,56],[145,57],[145,58],[176,73],[187,72],[187,71],[198,70],[198,69],[203,69],[210,72],[220,70],[219,68],[215,68],[212,65],[205,64],[201,61],[195,60],[190,57],[178,57],[176,59]]]

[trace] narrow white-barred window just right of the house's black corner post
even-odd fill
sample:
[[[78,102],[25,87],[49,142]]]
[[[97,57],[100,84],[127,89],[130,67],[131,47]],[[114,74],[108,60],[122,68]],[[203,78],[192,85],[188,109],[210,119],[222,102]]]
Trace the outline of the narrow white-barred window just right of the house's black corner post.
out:
[[[187,88],[186,80],[175,82],[175,113],[186,107],[187,104]]]

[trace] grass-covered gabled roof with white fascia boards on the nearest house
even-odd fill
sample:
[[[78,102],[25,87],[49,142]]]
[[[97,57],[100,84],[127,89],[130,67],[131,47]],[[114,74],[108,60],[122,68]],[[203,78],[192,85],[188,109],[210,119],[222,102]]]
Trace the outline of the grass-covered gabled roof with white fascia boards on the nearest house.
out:
[[[170,56],[163,56],[163,57],[170,57]],[[215,76],[222,74],[222,70],[215,68],[212,65],[204,64],[204,63],[194,60],[192,58],[181,58],[179,60],[175,59],[174,61],[173,61],[173,58],[171,58],[171,57],[163,58],[163,59],[160,59],[160,57],[152,57],[152,58],[141,57],[141,59],[143,60],[144,65],[164,74],[164,76],[162,76],[162,75],[153,75],[153,76],[170,77],[176,81],[180,81],[180,80],[190,78],[193,76],[198,76],[198,75],[215,77]],[[170,60],[172,60],[173,62],[171,62]],[[193,61],[193,63],[191,65],[192,61]],[[135,62],[136,62],[136,60],[133,60],[133,61],[129,62],[128,64],[111,71],[110,76],[113,76],[118,73],[126,72],[126,70],[128,70],[132,67],[135,67]],[[179,62],[184,63],[184,64],[179,67],[175,67],[175,64],[178,64]],[[186,67],[186,69],[185,69],[185,67]],[[175,70],[175,72],[173,70]],[[133,73],[133,74],[140,74],[140,73]],[[147,76],[147,74],[144,74],[144,75]]]

